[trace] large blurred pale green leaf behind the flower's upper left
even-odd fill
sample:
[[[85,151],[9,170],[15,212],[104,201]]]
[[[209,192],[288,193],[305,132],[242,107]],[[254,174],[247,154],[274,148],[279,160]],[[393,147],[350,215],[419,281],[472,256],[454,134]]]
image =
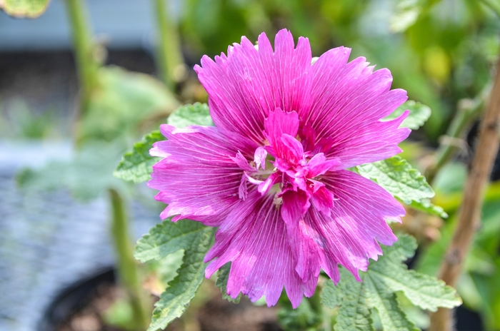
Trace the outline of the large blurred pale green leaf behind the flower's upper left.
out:
[[[119,67],[99,69],[99,88],[81,119],[81,135],[111,141],[135,137],[141,123],[163,117],[179,106],[163,83]]]

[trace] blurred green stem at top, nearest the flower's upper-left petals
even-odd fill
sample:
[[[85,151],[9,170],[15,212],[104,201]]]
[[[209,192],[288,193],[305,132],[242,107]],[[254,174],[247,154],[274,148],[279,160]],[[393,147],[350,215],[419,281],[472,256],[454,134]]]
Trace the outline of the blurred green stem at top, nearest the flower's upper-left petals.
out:
[[[186,66],[182,58],[179,34],[176,26],[170,21],[168,6],[165,6],[165,2],[166,0],[154,0],[159,34],[157,61],[161,71],[161,80],[169,88],[174,88],[175,84],[186,76]]]

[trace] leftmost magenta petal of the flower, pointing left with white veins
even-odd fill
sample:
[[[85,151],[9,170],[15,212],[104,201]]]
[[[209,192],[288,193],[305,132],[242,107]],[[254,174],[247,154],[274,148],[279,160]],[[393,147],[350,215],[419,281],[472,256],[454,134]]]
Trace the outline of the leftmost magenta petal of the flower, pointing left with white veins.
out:
[[[161,218],[190,218],[217,226],[239,200],[243,170],[234,159],[253,156],[253,141],[210,126],[184,129],[161,125],[168,139],[154,143],[151,155],[168,155],[153,166],[148,185],[168,204]],[[239,153],[241,152],[241,153]],[[243,157],[243,156],[241,156]]]

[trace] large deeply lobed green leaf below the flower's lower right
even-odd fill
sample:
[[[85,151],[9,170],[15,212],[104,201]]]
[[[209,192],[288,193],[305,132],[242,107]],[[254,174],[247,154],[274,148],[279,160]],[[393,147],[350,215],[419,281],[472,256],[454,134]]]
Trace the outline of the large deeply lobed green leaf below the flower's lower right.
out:
[[[374,330],[371,312],[376,310],[384,330],[418,330],[401,310],[395,292],[403,292],[411,303],[424,310],[456,307],[461,304],[456,290],[435,277],[408,270],[402,261],[414,255],[416,241],[404,235],[384,255],[372,261],[362,282],[356,282],[345,269],[338,286],[327,282],[321,302],[327,307],[340,306],[334,330]]]

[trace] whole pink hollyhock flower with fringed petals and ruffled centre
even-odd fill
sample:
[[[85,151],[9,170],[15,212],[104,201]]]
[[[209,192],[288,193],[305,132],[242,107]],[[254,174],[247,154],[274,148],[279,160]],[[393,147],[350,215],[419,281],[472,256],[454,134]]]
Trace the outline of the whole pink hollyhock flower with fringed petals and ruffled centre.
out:
[[[386,220],[404,208],[384,189],[347,170],[394,156],[410,130],[406,101],[391,73],[365,58],[348,62],[339,47],[311,64],[309,40],[279,31],[274,51],[245,37],[227,56],[195,66],[209,93],[214,127],[162,125],[149,187],[174,216],[218,226],[205,261],[210,277],[231,261],[227,292],[275,305],[283,287],[297,307],[314,294],[321,268],[339,282],[338,265],[359,280],[379,243],[396,241]],[[377,243],[379,242],[379,243]]]

